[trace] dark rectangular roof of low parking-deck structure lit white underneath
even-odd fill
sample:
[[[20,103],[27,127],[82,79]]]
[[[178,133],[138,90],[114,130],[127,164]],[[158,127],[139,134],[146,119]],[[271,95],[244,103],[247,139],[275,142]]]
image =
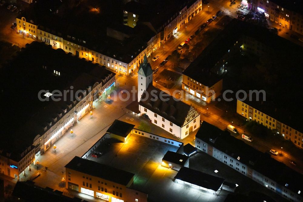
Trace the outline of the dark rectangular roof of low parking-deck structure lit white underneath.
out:
[[[183,180],[214,191],[217,191],[224,182],[223,178],[215,177],[187,167],[182,167],[175,176],[175,179]]]

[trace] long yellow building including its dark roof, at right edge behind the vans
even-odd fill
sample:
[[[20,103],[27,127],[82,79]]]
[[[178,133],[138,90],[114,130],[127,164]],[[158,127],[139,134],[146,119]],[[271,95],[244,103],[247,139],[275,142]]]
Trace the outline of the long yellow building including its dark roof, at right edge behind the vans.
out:
[[[303,148],[303,129],[300,118],[290,115],[285,109],[275,106],[269,101],[240,101],[237,99],[237,113],[247,120],[255,121],[277,134],[281,134],[286,140],[290,140],[295,146]]]

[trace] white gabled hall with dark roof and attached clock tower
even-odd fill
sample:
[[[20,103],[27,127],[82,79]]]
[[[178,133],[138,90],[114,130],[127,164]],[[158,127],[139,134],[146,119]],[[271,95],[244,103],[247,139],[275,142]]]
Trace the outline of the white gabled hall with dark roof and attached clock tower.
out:
[[[152,69],[145,55],[138,71],[138,102],[141,116],[178,138],[200,126],[200,114],[192,106],[152,85]],[[142,96],[141,96],[142,95]]]

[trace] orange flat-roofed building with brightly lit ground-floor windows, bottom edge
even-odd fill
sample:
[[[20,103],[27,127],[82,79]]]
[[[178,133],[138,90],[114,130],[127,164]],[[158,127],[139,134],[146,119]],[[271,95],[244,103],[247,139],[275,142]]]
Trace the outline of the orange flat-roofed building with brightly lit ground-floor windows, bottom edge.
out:
[[[147,202],[147,194],[129,188],[133,173],[74,157],[66,166],[66,188],[112,202]]]

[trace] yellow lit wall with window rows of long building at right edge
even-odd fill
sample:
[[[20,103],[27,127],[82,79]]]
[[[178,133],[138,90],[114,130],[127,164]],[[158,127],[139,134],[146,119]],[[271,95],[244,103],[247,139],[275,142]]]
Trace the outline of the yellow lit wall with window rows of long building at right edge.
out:
[[[253,120],[270,130],[275,130],[287,140],[290,140],[297,147],[303,148],[302,132],[280,122],[272,116],[269,116],[264,111],[260,111],[249,104],[237,100],[237,113],[245,117],[247,120]]]

